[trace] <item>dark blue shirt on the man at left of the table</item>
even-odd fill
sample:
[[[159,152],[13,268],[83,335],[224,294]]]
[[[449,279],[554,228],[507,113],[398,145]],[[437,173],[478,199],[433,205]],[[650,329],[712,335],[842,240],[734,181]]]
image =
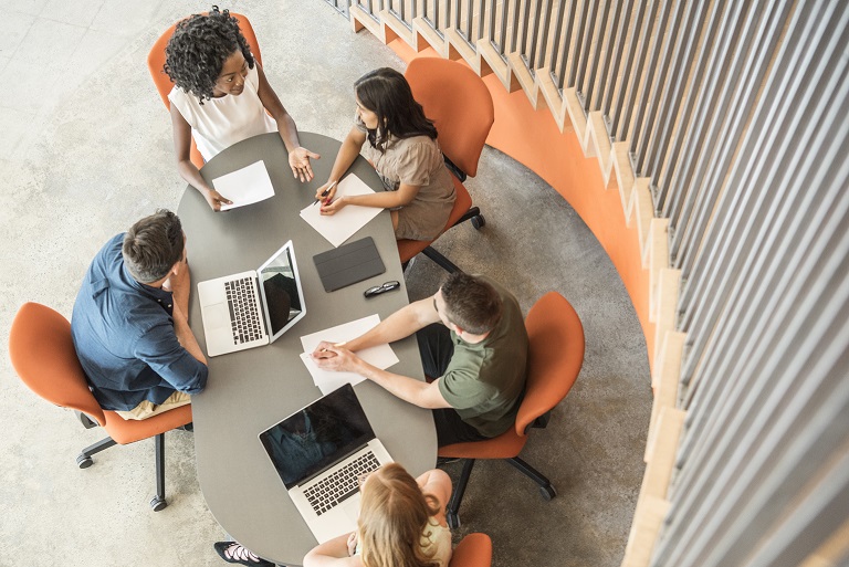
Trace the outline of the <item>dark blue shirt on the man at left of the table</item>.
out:
[[[129,274],[123,241],[116,235],[94,258],[71,334],[94,397],[104,409],[126,411],[143,400],[161,403],[176,390],[197,393],[209,372],[177,340],[172,294]]]

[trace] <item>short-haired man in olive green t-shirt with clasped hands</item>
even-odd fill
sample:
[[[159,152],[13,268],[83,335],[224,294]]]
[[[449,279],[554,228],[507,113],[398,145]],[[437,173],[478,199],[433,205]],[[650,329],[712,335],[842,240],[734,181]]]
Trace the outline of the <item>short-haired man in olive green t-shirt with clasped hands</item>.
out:
[[[380,370],[354,351],[416,333],[422,382]],[[525,388],[527,333],[518,302],[485,276],[451,274],[439,291],[397,311],[343,345],[313,353],[328,370],[353,371],[420,408],[433,410],[440,447],[500,435],[516,419]]]

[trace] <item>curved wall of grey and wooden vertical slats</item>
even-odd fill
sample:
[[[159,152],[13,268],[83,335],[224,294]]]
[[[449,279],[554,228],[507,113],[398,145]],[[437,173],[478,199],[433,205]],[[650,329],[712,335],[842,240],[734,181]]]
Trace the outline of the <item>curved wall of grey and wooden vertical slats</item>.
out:
[[[686,338],[649,564],[849,565],[849,2],[354,4],[574,90],[650,180]]]

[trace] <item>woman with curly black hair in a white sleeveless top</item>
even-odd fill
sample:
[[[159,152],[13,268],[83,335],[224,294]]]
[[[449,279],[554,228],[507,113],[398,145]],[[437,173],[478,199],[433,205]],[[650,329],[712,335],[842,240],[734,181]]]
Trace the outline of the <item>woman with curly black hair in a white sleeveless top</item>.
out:
[[[192,135],[209,161],[237,141],[280,132],[294,176],[301,181],[313,178],[310,158],[317,159],[318,155],[301,147],[295,122],[269,85],[239,30],[239,21],[228,10],[213,6],[209,14],[193,14],[179,22],[165,53],[164,70],[175,83],[168,99],[177,167],[213,210],[230,201],[203,180],[189,159]]]

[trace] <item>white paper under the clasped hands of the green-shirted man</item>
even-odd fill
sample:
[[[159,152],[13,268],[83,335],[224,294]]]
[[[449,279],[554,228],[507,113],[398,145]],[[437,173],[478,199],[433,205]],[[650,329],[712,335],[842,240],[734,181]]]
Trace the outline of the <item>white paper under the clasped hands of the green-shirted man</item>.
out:
[[[315,350],[315,347],[317,347],[322,340],[327,340],[329,343],[344,343],[350,340],[375,327],[378,323],[380,323],[380,316],[375,314],[301,337],[301,344],[304,347],[301,360],[304,361],[304,366],[310,370],[313,381],[318,389],[322,390],[323,395],[327,395],[345,384],[350,384],[352,386],[359,384],[365,380],[365,378],[354,372],[322,370],[310,356],[313,350]],[[357,356],[381,370],[386,370],[390,366],[398,364],[398,356],[396,356],[395,350],[392,350],[392,347],[388,344],[358,350]]]

